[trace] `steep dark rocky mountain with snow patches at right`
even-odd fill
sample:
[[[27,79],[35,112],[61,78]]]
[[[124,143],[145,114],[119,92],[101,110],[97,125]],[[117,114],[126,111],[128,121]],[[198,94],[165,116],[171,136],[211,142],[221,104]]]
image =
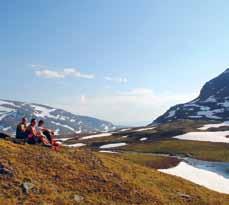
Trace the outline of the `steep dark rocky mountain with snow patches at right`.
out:
[[[171,107],[153,124],[181,119],[229,120],[229,68],[208,81],[195,100]]]

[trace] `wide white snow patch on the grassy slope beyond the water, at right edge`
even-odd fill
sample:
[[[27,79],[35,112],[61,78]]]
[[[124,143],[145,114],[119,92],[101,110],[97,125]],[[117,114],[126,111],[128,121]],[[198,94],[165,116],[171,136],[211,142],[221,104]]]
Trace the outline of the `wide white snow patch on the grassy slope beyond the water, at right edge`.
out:
[[[192,140],[192,141],[207,141],[207,142],[223,142],[229,143],[229,131],[220,132],[189,132],[183,135],[178,135],[173,138],[180,140]]]

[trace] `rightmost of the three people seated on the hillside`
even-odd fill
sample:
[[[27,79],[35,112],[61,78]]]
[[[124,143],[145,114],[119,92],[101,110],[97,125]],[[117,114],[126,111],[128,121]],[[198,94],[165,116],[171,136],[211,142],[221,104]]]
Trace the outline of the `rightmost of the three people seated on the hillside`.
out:
[[[48,143],[56,150],[59,147],[59,143],[54,139],[54,132],[46,128],[44,125],[45,123],[43,120],[38,122],[39,135],[43,138],[45,143],[47,143],[45,141],[45,139],[47,139]]]

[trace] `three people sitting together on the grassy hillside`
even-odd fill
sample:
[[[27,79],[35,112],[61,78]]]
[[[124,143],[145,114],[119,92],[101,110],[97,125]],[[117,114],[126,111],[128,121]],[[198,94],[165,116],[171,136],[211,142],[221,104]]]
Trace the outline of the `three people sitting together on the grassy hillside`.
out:
[[[27,125],[26,118],[22,118],[21,122],[17,125],[16,138],[24,139],[29,144],[42,143],[46,146],[53,147],[57,150],[60,144],[55,140],[55,134],[52,130],[45,127],[43,120],[38,122],[32,119],[30,124]]]

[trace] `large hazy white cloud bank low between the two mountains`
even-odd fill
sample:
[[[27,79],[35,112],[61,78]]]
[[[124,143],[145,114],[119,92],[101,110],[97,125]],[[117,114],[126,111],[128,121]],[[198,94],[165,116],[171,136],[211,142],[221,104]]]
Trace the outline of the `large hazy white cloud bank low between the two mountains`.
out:
[[[151,89],[137,88],[127,92],[117,92],[96,96],[81,96],[58,106],[83,115],[95,116],[115,124],[150,123],[163,114],[170,106],[192,100],[196,94],[156,94]],[[74,103],[72,103],[74,102]],[[139,124],[140,125],[140,124]]]

